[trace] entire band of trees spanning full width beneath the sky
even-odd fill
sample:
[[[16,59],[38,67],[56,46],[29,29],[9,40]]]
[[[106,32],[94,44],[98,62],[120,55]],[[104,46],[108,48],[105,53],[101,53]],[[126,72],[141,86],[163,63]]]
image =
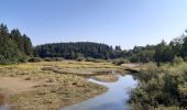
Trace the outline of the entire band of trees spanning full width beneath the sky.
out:
[[[0,24],[0,64],[25,62],[28,57],[63,57],[66,59],[125,58],[132,63],[173,62],[175,57],[187,57],[187,36],[174,38],[168,44],[162,41],[156,45],[134,46],[133,50],[121,50],[103,43],[51,43],[32,46],[30,37],[18,29],[9,32],[7,25]]]

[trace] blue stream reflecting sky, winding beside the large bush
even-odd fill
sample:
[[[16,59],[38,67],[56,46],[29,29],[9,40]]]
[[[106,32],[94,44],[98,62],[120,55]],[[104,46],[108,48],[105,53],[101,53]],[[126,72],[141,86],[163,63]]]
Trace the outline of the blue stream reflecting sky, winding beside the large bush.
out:
[[[116,82],[102,82],[94,79],[89,79],[89,81],[103,85],[109,90],[80,103],[67,106],[62,110],[127,110],[129,91],[138,84],[131,75],[119,76],[119,80]]]

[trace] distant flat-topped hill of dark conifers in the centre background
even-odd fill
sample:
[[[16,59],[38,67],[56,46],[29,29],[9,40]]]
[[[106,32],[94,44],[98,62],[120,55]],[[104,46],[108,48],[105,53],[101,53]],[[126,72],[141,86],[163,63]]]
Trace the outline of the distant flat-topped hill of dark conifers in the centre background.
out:
[[[120,46],[112,46],[101,43],[77,42],[77,43],[53,43],[38,45],[34,53],[40,57],[64,57],[66,59],[76,59],[78,57],[92,58],[118,58],[123,57],[124,52]]]

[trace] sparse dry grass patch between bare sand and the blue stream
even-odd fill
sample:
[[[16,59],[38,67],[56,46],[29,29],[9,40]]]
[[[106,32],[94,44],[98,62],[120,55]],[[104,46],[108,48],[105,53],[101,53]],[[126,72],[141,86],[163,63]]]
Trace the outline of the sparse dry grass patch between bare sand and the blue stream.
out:
[[[62,76],[61,81],[55,79],[50,82],[38,85],[32,91],[14,95],[9,102],[13,105],[13,109],[19,110],[30,110],[31,108],[56,110],[106,91],[102,86],[87,82],[86,79],[72,75]]]

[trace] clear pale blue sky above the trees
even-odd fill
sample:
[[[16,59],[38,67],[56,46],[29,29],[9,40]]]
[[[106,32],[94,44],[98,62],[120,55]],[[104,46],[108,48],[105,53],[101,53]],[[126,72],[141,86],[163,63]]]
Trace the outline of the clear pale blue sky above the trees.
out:
[[[187,0],[0,0],[0,23],[33,45],[98,42],[132,48],[187,29]]]

